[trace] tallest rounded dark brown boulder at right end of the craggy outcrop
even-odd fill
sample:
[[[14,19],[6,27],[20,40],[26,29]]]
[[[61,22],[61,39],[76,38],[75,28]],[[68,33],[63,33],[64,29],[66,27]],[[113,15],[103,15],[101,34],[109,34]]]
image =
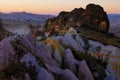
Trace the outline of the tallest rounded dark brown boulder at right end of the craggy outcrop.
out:
[[[109,20],[103,7],[101,7],[100,5],[89,4],[86,6],[84,16],[84,25],[87,25],[95,30],[108,32]]]

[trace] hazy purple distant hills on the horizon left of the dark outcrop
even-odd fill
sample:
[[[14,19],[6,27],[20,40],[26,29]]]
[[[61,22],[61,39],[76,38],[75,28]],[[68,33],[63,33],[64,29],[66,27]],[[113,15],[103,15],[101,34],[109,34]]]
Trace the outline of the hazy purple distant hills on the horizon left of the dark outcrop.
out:
[[[15,20],[24,21],[32,24],[41,23],[44,24],[48,18],[54,17],[53,15],[33,14],[28,12],[11,12],[2,13],[0,12],[0,18],[3,20]]]

